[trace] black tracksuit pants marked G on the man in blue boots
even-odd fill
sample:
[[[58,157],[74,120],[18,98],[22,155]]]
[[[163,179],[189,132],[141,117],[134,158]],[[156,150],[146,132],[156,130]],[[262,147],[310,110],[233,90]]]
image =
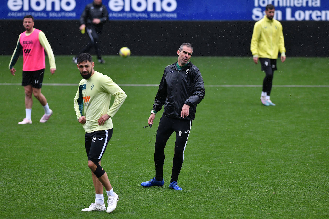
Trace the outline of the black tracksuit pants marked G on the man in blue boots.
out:
[[[176,141],[170,182],[178,180],[191,125],[192,120],[174,119],[165,116],[160,119],[154,150],[155,177],[157,180],[160,181],[163,179],[164,148],[173,132],[176,132]]]

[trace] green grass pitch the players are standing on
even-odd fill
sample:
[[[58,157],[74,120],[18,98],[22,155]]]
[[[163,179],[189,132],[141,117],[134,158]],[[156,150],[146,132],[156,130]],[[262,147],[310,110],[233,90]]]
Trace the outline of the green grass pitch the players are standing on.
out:
[[[95,195],[84,130],[73,107],[81,76],[71,58],[56,56],[54,75],[46,58],[42,93],[54,115],[39,123],[43,109],[33,97],[33,124],[18,125],[25,117],[24,90],[16,85],[22,57],[12,76],[10,56],[0,56],[0,218],[329,217],[329,58],[278,63],[271,95],[276,106],[265,107],[259,99],[265,74],[251,57],[192,56],[206,96],[185,150],[182,191],[168,188],[174,135],[165,149],[164,187],[140,186],[155,174],[155,139],[148,142],[163,111],[144,129],[158,87],[127,86],[159,84],[177,57],[117,55],[96,62],[95,70],[121,84],[128,96],[113,118],[102,159],[120,196],[110,215],[81,211]]]

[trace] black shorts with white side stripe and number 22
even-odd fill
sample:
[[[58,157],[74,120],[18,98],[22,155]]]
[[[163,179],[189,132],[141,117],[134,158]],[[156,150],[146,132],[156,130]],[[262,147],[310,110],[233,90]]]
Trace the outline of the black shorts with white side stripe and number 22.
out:
[[[100,161],[105,152],[106,146],[112,137],[113,129],[86,132],[85,143],[88,160]]]

